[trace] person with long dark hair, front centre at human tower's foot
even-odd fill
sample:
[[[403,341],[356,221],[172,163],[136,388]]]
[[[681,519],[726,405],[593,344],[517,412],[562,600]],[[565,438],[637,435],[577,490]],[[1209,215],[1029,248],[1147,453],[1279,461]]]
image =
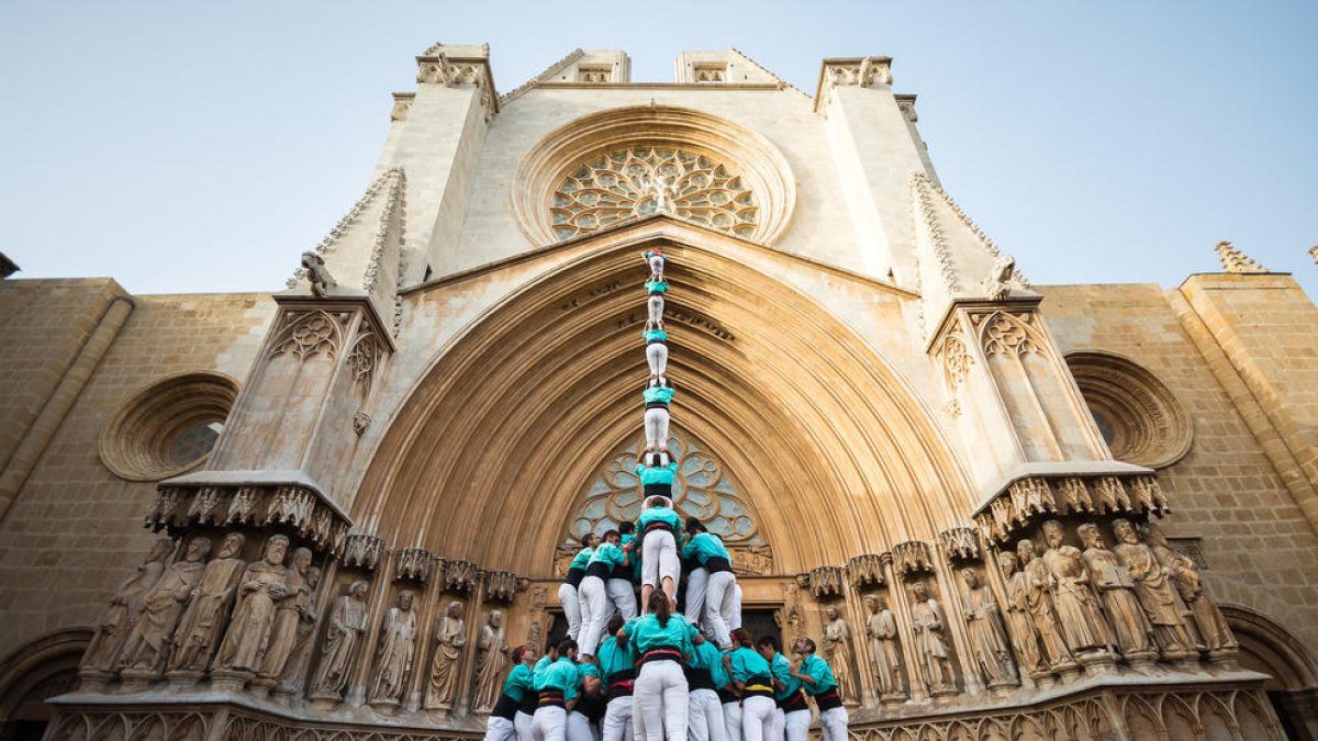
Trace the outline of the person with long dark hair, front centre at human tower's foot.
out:
[[[645,728],[646,741],[687,741],[689,697],[683,663],[693,642],[704,642],[704,636],[687,618],[673,614],[667,595],[652,592],[646,614],[623,625],[618,637],[641,655],[633,712],[641,713],[637,726]]]

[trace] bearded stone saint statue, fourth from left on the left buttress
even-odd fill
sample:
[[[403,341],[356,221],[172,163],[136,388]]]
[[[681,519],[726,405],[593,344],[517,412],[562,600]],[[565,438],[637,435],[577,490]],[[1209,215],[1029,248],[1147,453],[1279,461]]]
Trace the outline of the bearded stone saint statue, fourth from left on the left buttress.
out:
[[[265,542],[260,560],[248,564],[239,581],[237,605],[233,620],[224,633],[214,670],[252,672],[261,671],[261,661],[270,645],[274,613],[287,595],[289,570],[283,556],[289,552],[286,535],[272,535]]]

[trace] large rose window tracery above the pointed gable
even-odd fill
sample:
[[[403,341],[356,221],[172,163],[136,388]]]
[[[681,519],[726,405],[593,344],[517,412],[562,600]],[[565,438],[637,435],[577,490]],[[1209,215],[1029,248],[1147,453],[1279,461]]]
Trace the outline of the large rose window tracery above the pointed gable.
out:
[[[726,165],[662,146],[587,161],[563,179],[550,208],[560,240],[656,212],[750,239],[757,211],[754,193]]]

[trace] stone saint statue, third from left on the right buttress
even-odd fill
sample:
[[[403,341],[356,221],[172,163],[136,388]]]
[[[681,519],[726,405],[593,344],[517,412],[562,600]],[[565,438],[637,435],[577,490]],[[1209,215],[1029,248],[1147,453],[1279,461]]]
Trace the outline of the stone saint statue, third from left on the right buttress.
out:
[[[1098,597],[1090,588],[1085,556],[1075,546],[1068,546],[1064,538],[1061,522],[1044,522],[1044,539],[1048,542],[1044,564],[1052,576],[1053,605],[1062,636],[1077,657],[1101,654],[1112,645],[1112,637]]]

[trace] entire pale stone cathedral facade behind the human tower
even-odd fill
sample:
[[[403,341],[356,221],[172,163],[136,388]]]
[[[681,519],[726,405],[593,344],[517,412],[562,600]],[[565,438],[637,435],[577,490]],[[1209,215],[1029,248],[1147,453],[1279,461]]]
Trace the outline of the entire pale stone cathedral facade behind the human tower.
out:
[[[555,632],[564,546],[634,488],[662,247],[675,442],[718,477],[683,484],[746,609],[846,667],[853,730],[1318,733],[1289,276],[1226,245],[1173,290],[1031,286],[884,57],[813,96],[735,50],[676,83],[576,50],[505,95],[488,59],[418,57],[285,291],[0,283],[0,721],[481,733],[477,667]]]

